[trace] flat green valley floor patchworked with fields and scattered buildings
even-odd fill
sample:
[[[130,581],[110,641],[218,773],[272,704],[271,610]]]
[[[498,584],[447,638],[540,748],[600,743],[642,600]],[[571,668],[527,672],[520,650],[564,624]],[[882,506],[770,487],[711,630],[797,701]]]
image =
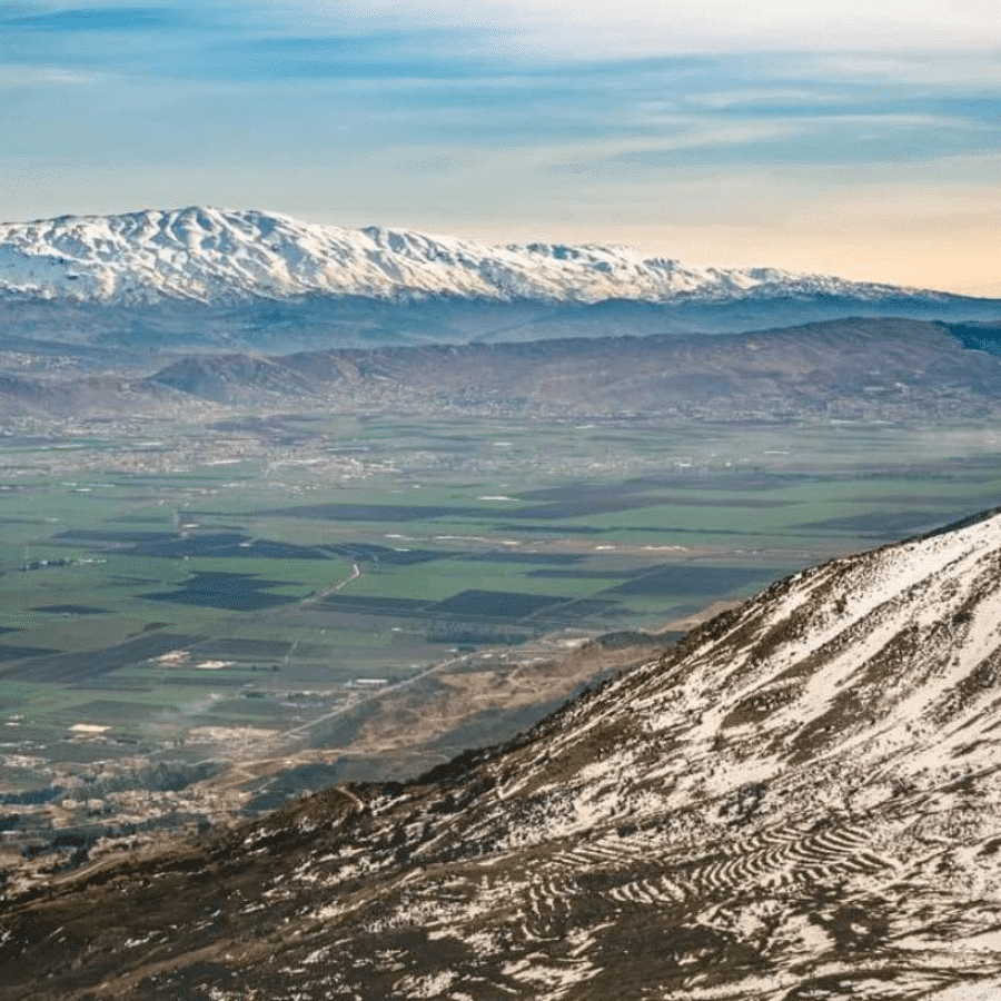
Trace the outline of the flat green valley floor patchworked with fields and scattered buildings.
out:
[[[320,744],[442,662],[499,678],[538,644],[670,633],[995,506],[999,452],[983,429],[832,423],[310,414],[8,434],[0,797],[100,812],[95,790],[148,790],[157,766],[180,789],[206,763]]]

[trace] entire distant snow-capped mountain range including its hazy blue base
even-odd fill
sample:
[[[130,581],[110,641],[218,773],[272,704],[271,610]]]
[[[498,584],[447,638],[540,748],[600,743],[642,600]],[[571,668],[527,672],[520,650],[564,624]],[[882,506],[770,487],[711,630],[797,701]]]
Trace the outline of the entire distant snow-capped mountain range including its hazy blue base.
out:
[[[0,225],[0,329],[73,344],[533,340],[849,315],[997,319],[1001,303],[774,268],[700,268],[624,247],[494,247],[259,211]]]

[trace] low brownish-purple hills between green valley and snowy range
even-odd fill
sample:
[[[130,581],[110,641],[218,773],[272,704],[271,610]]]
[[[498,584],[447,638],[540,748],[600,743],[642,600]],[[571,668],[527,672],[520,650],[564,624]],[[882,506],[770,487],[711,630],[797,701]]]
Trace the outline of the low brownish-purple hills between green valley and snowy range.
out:
[[[985,419],[1001,409],[1001,326],[830,320],[661,335],[190,355],[146,377],[0,375],[0,416],[373,412],[713,420]],[[92,349],[91,349],[92,350]],[[23,353],[22,353],[23,356]],[[29,358],[32,356],[28,356]]]

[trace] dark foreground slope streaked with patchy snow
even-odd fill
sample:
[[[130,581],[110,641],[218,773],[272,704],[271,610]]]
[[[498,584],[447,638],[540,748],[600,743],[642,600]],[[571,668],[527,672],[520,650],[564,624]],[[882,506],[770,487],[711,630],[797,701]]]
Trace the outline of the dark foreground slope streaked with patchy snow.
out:
[[[6,904],[12,999],[990,1001],[1001,515],[782,581],[506,746]]]

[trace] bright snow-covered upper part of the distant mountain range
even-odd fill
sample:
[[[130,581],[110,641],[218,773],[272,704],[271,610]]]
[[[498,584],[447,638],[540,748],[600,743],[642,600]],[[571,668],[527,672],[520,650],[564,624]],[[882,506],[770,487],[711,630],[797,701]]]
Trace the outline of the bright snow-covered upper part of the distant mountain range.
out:
[[[772,268],[697,268],[623,247],[492,247],[217,208],[0,225],[0,297],[135,305],[304,295],[573,304],[929,296]]]

